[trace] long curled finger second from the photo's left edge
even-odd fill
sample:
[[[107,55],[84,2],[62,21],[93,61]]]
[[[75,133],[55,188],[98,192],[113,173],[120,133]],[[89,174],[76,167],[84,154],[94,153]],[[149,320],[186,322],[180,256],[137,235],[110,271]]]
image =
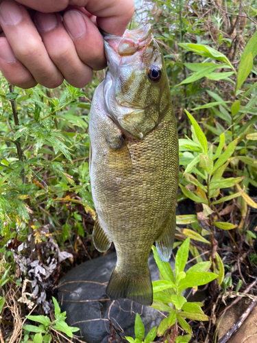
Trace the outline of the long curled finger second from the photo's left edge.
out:
[[[47,54],[45,45],[23,5],[3,1],[0,6],[0,25],[14,55],[32,73],[39,84],[55,88],[63,76]]]

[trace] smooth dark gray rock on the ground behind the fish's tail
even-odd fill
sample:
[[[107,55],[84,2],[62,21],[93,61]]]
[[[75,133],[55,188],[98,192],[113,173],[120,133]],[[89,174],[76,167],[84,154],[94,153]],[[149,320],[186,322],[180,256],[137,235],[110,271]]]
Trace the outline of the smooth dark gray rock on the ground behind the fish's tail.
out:
[[[116,254],[112,253],[78,265],[61,279],[59,300],[62,311],[67,313],[66,322],[70,326],[79,327],[80,339],[87,343],[108,342],[110,321],[119,335],[134,337],[137,312],[145,324],[145,333],[158,326],[164,318],[156,309],[128,299],[108,300],[105,291],[115,264]],[[159,271],[152,254],[148,264],[152,281],[158,280]],[[174,269],[173,259],[170,264]]]

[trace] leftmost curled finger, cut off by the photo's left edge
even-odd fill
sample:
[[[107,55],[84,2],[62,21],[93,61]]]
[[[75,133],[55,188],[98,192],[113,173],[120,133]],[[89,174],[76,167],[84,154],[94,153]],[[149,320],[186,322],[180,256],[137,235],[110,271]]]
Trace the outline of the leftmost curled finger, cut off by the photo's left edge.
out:
[[[0,69],[10,84],[21,88],[36,86],[36,81],[27,68],[14,56],[6,38],[0,38]]]

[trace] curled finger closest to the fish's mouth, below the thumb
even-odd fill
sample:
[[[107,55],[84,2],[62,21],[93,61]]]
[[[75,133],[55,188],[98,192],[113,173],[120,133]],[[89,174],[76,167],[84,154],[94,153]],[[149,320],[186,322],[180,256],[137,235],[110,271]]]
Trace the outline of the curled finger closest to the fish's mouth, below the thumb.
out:
[[[106,67],[103,37],[88,16],[79,10],[69,10],[64,13],[63,22],[79,58],[94,70]]]

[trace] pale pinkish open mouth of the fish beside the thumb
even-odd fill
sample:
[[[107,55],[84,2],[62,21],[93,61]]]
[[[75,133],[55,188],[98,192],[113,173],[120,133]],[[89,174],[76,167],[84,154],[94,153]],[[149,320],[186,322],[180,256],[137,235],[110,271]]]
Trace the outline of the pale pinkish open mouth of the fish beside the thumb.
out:
[[[112,48],[119,56],[132,56],[136,51],[145,49],[153,39],[151,24],[132,31],[126,29],[122,37],[110,34],[103,36],[106,49]]]

